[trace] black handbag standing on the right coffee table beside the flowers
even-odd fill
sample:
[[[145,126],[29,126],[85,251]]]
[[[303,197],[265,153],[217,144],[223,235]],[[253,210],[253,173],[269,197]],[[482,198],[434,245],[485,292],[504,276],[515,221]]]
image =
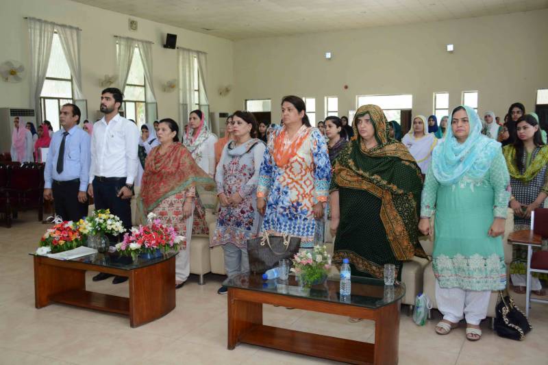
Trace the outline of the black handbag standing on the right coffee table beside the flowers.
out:
[[[249,270],[253,274],[264,273],[277,266],[279,260],[292,259],[300,246],[301,238],[290,235],[263,234],[262,237],[247,240]]]

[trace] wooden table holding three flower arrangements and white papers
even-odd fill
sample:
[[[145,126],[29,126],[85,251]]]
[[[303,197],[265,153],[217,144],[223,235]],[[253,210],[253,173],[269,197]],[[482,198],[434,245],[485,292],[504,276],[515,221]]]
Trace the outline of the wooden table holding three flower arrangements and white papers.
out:
[[[86,270],[129,277],[129,298],[86,290]],[[175,253],[127,265],[100,253],[66,261],[34,255],[34,300],[36,308],[55,302],[124,314],[138,327],[175,308]]]

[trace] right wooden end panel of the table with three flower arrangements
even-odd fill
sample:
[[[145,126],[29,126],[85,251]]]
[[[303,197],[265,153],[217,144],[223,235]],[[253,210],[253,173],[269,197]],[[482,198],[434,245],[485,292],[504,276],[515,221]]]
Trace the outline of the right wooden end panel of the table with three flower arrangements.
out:
[[[138,327],[175,308],[175,256],[129,273],[129,323]]]

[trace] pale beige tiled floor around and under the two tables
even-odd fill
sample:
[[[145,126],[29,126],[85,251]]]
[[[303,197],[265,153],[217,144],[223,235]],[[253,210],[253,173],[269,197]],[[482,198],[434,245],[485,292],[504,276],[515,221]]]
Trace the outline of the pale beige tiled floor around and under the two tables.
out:
[[[21,214],[11,229],[0,227],[0,364],[312,364],[329,363],[314,357],[239,345],[227,347],[227,297],[216,294],[222,277],[206,276],[199,286],[190,277],[177,290],[177,307],[164,318],[132,329],[125,316],[66,305],[34,308],[32,258],[47,226],[36,214]],[[127,296],[127,282],[93,283],[90,290]],[[524,296],[514,294],[518,303]],[[523,306],[522,306],[523,307]],[[523,342],[505,340],[488,329],[479,342],[464,338],[464,327],[447,336],[434,333],[434,320],[416,326],[401,316],[399,364],[548,364],[548,305],[534,303],[533,331]],[[373,342],[370,321],[283,307],[264,307],[264,323]]]

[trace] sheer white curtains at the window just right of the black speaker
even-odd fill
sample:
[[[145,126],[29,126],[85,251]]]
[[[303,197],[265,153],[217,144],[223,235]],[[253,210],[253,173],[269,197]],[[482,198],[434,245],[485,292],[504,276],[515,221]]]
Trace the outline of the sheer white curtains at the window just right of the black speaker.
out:
[[[195,63],[195,59],[197,62]],[[196,70],[196,67],[198,70]],[[197,71],[197,72],[196,72]],[[195,79],[195,75],[200,75],[199,85],[199,103],[195,95],[195,84],[199,81]],[[191,49],[179,49],[179,112],[180,120],[188,120],[188,113],[195,104],[199,104],[198,108],[204,113],[206,123],[210,127],[209,118],[209,102],[206,92],[207,79],[207,54]]]

